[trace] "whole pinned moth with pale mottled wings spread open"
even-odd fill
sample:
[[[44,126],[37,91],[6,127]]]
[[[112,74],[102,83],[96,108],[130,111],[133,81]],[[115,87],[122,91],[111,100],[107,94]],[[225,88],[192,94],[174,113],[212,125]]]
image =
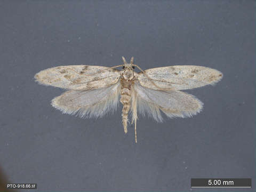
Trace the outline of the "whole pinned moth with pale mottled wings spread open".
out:
[[[98,118],[123,104],[122,122],[127,133],[129,111],[137,142],[137,113],[162,122],[167,117],[191,117],[202,110],[203,103],[194,95],[180,90],[215,84],[222,78],[218,70],[201,66],[169,66],[142,70],[133,63],[114,67],[70,65],[40,71],[39,84],[66,89],[52,100],[52,106],[64,114],[82,118]],[[116,68],[122,67],[122,70]],[[141,72],[136,73],[137,67]]]

